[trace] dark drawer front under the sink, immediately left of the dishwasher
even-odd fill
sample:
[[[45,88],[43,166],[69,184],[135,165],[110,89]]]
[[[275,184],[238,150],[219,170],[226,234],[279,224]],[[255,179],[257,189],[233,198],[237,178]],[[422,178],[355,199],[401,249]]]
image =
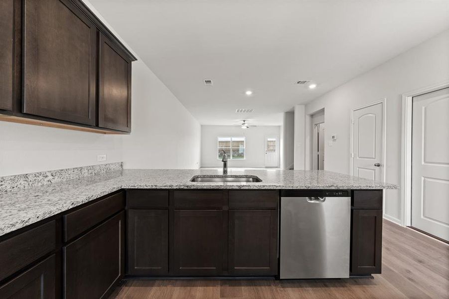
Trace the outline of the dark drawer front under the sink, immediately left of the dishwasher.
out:
[[[229,208],[276,210],[278,198],[278,190],[231,190]]]

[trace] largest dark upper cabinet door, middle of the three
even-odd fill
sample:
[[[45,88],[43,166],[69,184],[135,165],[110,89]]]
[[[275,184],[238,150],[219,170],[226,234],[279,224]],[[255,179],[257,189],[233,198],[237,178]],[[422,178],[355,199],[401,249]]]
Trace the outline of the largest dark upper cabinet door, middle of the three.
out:
[[[69,0],[23,3],[22,112],[95,125],[95,25]]]

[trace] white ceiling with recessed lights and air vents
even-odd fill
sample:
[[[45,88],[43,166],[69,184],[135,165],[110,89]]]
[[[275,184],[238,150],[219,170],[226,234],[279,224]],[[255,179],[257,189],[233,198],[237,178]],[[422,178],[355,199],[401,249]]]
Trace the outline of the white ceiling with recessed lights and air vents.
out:
[[[90,2],[202,125],[280,125],[294,105],[449,27],[449,1]]]

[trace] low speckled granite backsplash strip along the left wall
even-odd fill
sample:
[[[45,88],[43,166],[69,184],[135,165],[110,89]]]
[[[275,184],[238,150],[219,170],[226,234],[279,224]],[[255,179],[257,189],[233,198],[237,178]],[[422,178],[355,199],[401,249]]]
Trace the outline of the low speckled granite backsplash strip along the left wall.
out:
[[[122,162],[116,162],[18,175],[0,176],[0,192],[37,187],[84,176],[122,170],[122,165]]]

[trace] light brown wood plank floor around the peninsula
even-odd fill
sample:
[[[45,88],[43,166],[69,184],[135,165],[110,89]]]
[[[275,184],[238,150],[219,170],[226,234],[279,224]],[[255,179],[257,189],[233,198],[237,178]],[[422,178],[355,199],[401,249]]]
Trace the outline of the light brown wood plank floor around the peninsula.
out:
[[[383,223],[382,274],[341,280],[127,280],[110,299],[449,299],[449,245]]]

